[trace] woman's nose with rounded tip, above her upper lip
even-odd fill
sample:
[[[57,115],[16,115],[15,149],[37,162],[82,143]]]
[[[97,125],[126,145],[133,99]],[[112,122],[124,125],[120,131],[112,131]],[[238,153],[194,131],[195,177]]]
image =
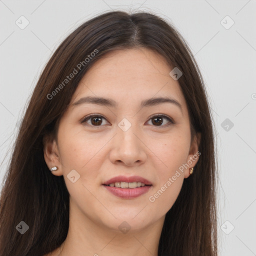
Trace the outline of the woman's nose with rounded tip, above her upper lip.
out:
[[[126,131],[117,127],[117,134],[112,139],[109,158],[112,163],[127,166],[140,165],[146,160],[146,145],[133,125]]]

